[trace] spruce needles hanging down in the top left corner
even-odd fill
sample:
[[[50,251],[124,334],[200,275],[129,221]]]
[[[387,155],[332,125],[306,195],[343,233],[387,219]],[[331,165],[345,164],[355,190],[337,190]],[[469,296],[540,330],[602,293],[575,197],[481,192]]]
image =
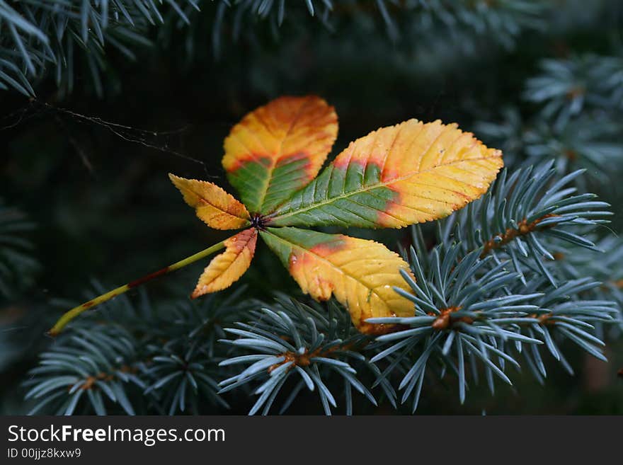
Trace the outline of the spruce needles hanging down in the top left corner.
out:
[[[188,23],[194,0],[167,0]],[[135,59],[132,45],[150,45],[149,27],[164,23],[162,0],[0,0],[0,89],[35,96],[33,83],[53,69],[57,86],[71,93],[79,51],[98,95],[103,94],[105,51]]]

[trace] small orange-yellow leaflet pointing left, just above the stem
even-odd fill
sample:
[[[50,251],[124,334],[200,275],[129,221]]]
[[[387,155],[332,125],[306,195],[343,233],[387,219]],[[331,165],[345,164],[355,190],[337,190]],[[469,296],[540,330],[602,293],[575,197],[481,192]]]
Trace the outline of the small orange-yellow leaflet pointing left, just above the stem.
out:
[[[196,179],[168,175],[197,216],[214,229],[239,229],[251,224],[244,205],[219,186]]]

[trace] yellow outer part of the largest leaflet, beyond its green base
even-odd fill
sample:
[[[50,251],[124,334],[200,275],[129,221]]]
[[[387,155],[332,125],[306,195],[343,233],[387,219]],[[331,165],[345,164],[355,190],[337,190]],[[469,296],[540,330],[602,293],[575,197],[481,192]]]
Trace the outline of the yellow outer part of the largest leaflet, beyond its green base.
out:
[[[396,193],[379,215],[384,227],[446,217],[483,195],[503,166],[501,151],[455,123],[409,120],[379,132],[393,139],[382,161],[381,182]],[[417,163],[404,156],[406,151],[419,154]]]

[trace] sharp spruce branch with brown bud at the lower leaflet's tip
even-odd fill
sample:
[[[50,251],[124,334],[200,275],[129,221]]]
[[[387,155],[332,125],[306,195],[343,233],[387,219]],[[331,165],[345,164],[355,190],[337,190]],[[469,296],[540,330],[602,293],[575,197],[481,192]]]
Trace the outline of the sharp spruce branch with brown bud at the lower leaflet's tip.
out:
[[[582,297],[600,282],[583,278],[556,288],[539,272],[526,270],[524,284],[509,270],[508,261],[496,264],[491,256],[480,258],[480,250],[462,256],[462,250],[460,243],[440,244],[421,260],[411,248],[417,281],[403,273],[413,292],[396,292],[413,302],[414,316],[370,320],[406,326],[370,345],[377,352],[371,361],[384,367],[380,379],[401,372],[402,403],[411,399],[416,411],[425,374],[432,367],[456,374],[459,399],[464,402],[467,373],[477,382],[479,367],[492,394],[495,378],[511,384],[507,367],[519,369],[519,357],[542,382],[547,371],[541,345],[571,373],[560,349],[563,340],[605,360],[595,325],[617,321],[617,305]]]

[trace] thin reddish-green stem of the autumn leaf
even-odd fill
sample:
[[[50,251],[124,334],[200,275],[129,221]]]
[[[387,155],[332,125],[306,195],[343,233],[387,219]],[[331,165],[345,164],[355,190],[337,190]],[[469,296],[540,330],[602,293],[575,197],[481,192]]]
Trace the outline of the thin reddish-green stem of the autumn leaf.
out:
[[[106,292],[105,294],[101,294],[100,296],[95,297],[94,299],[88,300],[87,302],[84,302],[84,304],[80,304],[79,306],[76,306],[73,309],[64,313],[63,316],[61,316],[58,319],[55,325],[52,326],[50,331],[48,331],[47,333],[51,336],[56,336],[63,330],[65,326],[67,326],[67,323],[69,323],[74,318],[76,318],[76,316],[79,316],[79,314],[81,314],[83,311],[92,309],[93,307],[98,306],[99,304],[103,304],[104,302],[108,302],[110,299],[113,299],[113,297],[117,297],[120,294],[124,294],[130,289],[138,287],[144,284],[145,282],[153,280],[156,277],[166,275],[172,271],[179,270],[180,268],[184,268],[186,265],[195,263],[197,260],[201,260],[202,258],[205,258],[211,255],[212,253],[215,253],[216,251],[221,250],[222,248],[224,248],[224,246],[225,246],[225,241],[220,241],[219,243],[215,243],[214,246],[208,247],[205,250],[195,253],[194,255],[191,255],[190,257],[186,257],[183,260],[173,263],[172,265],[168,265],[167,267],[162,268],[161,270],[153,272],[144,277],[140,277],[137,280],[128,282],[126,285],[122,285],[120,287],[117,287],[116,289]]]

